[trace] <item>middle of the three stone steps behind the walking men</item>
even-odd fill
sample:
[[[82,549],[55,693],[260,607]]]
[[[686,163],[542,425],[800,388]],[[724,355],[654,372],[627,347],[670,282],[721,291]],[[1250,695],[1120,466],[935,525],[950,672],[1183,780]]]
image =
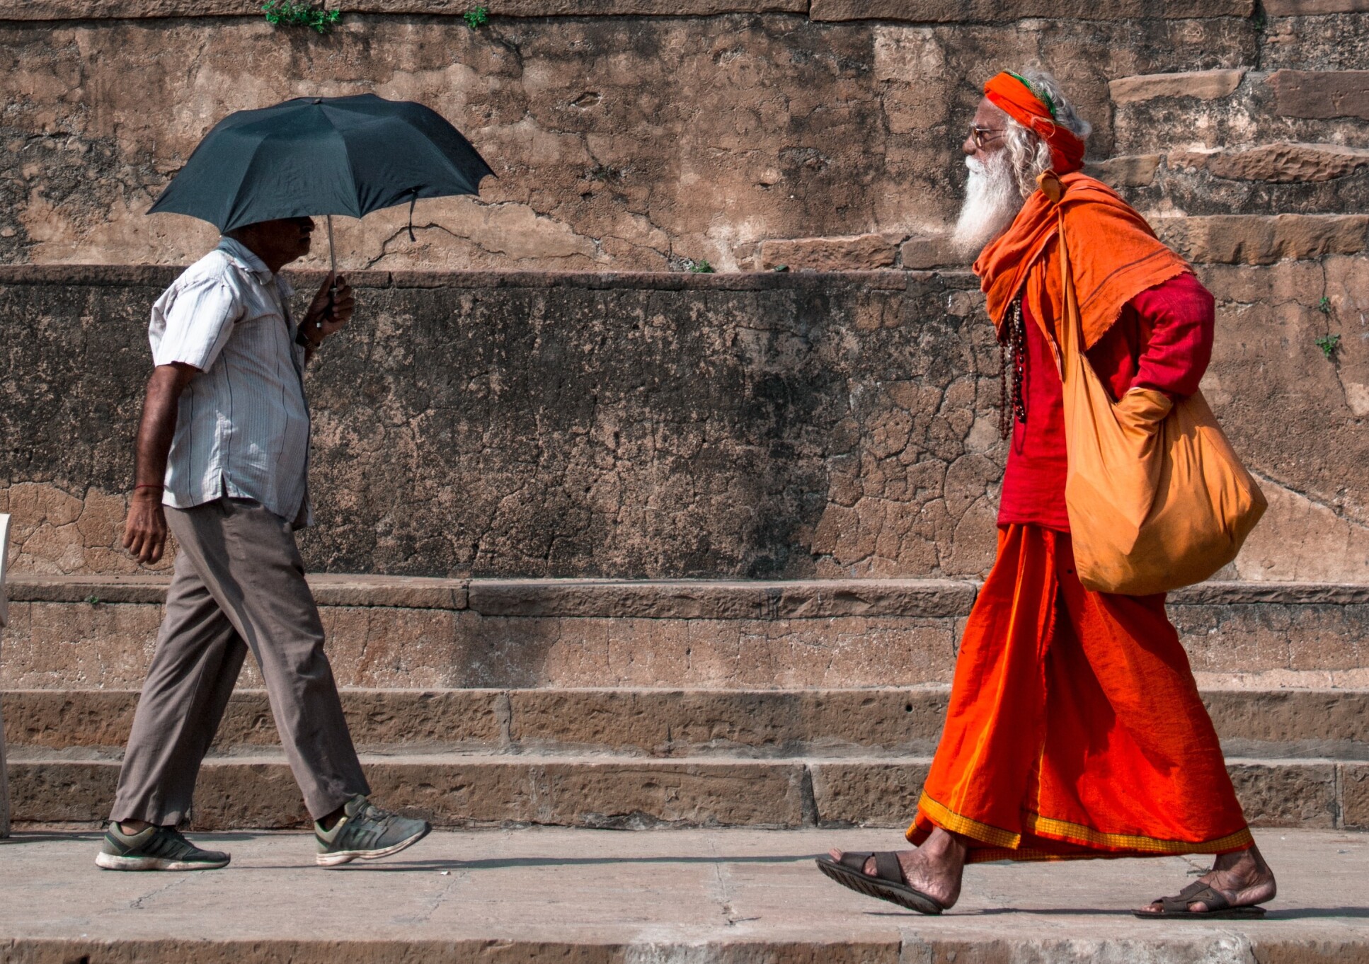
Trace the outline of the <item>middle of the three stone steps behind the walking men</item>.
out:
[[[342,690],[374,752],[771,759],[931,754],[946,686],[838,690]],[[0,692],[16,752],[116,759],[134,690]],[[1231,756],[1369,760],[1369,690],[1205,690]],[[215,750],[277,746],[264,690],[233,696]]]

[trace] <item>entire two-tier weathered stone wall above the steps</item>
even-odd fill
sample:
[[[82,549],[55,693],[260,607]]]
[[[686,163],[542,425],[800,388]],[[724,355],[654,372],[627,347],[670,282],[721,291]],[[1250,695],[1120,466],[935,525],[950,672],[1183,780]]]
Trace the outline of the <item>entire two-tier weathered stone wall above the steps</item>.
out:
[[[1227,575],[1369,581],[1364,0],[486,5],[471,30],[464,4],[346,3],[319,37],[252,0],[0,0],[21,570],[133,568],[171,277],[56,266],[193,259],[211,229],[144,211],[215,120],[371,90],[442,111],[498,178],[420,204],[416,244],[405,211],[338,223],[366,308],[309,375],[311,567],[980,572],[997,359],[945,231],[979,84],[1038,60],[1095,125],[1090,170],[1218,297],[1205,388],[1272,501]],[[702,260],[730,274],[680,274]]]

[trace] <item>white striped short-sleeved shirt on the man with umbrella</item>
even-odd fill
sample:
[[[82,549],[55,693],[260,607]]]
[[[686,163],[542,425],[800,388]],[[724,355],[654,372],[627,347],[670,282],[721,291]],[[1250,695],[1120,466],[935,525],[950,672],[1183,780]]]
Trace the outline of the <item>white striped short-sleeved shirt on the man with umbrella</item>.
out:
[[[200,370],[181,393],[162,501],[253,498],[294,520],[305,501],[309,409],[290,285],[233,238],[152,305],[153,364]]]

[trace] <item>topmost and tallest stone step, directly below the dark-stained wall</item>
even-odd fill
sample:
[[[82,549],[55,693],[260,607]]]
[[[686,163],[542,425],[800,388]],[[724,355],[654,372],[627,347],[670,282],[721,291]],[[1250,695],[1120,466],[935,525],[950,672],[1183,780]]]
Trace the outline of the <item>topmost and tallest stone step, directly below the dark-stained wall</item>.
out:
[[[950,682],[977,585],[311,576],[338,682],[804,689]],[[133,689],[162,576],[19,576],[8,689]],[[1369,686],[1369,585],[1210,582],[1170,616],[1205,686]],[[253,670],[245,685],[260,685]]]

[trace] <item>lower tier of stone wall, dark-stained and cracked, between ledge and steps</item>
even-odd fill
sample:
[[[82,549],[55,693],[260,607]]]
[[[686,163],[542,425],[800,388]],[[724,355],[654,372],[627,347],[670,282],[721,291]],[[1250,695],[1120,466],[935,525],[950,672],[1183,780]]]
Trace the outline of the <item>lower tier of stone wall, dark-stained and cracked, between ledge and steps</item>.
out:
[[[1348,362],[1312,341],[1335,323],[1320,292],[1362,300],[1364,266],[1205,270],[1207,393],[1273,504],[1228,576],[1369,581],[1369,434]],[[18,568],[133,570],[145,316],[172,275],[0,268]],[[973,576],[993,559],[999,363],[968,272],[356,282],[357,319],[308,372],[311,570]]]

